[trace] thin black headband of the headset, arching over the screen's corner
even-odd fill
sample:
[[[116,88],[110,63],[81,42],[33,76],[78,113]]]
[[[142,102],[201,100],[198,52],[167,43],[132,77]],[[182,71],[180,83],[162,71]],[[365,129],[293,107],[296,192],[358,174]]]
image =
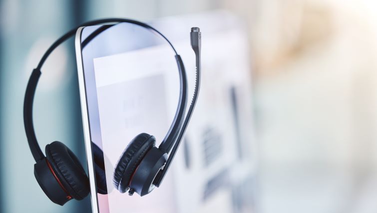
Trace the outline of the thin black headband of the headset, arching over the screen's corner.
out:
[[[106,19],[98,19],[98,20],[88,21],[86,23],[83,23],[83,24],[71,29],[67,33],[65,33],[63,36],[61,36],[59,39],[57,39],[47,49],[47,51],[43,54],[42,58],[40,59],[37,67],[35,69],[33,69],[32,73],[31,73],[30,79],[27,83],[25,98],[24,98],[24,103],[23,103],[23,120],[24,120],[24,126],[25,126],[27,141],[28,141],[31,153],[32,153],[36,162],[38,162],[41,159],[44,159],[44,157],[45,157],[43,152],[41,151],[41,149],[39,147],[37,140],[36,140],[34,125],[33,125],[33,116],[32,116],[34,94],[35,94],[35,89],[36,89],[36,86],[37,86],[37,83],[38,83],[38,80],[39,80],[39,77],[40,77],[40,74],[41,74],[40,69],[41,69],[42,65],[44,64],[45,60],[50,55],[50,53],[57,46],[59,46],[62,42],[64,42],[66,39],[68,39],[69,37],[71,37],[75,34],[78,27],[97,25],[97,24],[109,23],[109,22],[133,23],[133,24],[145,27],[147,29],[150,29],[150,30],[156,32],[157,34],[159,34],[162,38],[164,38],[169,43],[169,45],[172,47],[172,49],[175,53],[175,58],[176,58],[176,61],[177,61],[178,70],[179,70],[179,78],[180,78],[179,101],[178,101],[178,106],[177,106],[177,110],[176,110],[173,122],[170,125],[170,128],[169,128],[165,138],[162,140],[162,142],[159,146],[159,149],[168,153],[173,148],[175,141],[177,141],[177,143],[174,145],[174,148],[173,148],[173,152],[174,152],[173,156],[169,156],[167,165],[170,164],[172,158],[174,157],[175,151],[178,148],[179,142],[182,139],[183,133],[184,133],[184,131],[187,127],[188,121],[191,117],[191,113],[192,113],[193,107],[195,105],[197,93],[198,93],[198,90],[199,90],[199,87],[198,87],[199,82],[196,82],[197,84],[196,84],[196,87],[195,87],[194,98],[193,98],[193,101],[191,102],[189,113],[187,114],[188,117],[186,117],[185,122],[183,122],[184,121],[184,113],[185,113],[186,104],[187,104],[187,77],[186,77],[186,72],[185,72],[185,68],[184,68],[184,65],[183,65],[183,61],[182,61],[180,55],[178,55],[178,53],[175,50],[172,43],[160,31],[158,31],[157,29],[153,28],[152,26],[150,26],[146,23],[136,21],[136,20],[132,20],[132,19],[126,19],[126,18],[106,18]],[[110,27],[110,26],[103,26],[102,28],[100,27],[100,29],[95,30],[92,34],[90,34],[87,37],[87,39],[85,39],[81,43],[81,48],[84,48],[84,46],[87,43],[89,43],[91,39],[93,39],[97,34],[102,32],[103,30],[107,29],[108,27]],[[200,63],[198,64],[198,62],[197,62],[197,69],[199,69],[199,67],[200,67]],[[199,70],[197,70],[197,72],[198,71]],[[181,130],[182,125],[183,125],[183,130]],[[166,172],[166,170],[167,169],[164,169],[165,172]]]

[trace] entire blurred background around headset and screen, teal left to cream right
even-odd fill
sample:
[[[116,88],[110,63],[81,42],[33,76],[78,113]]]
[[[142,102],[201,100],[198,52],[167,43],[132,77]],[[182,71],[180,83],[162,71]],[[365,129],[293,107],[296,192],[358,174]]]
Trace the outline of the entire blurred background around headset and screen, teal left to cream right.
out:
[[[47,202],[31,172],[26,82],[62,33],[100,17],[222,9],[249,39],[258,172],[255,212],[377,211],[375,0],[0,0],[0,211],[86,212]],[[73,41],[46,63],[34,113],[41,146],[59,139],[85,160]],[[66,71],[73,70],[73,71]],[[236,74],[236,73],[235,73]]]

